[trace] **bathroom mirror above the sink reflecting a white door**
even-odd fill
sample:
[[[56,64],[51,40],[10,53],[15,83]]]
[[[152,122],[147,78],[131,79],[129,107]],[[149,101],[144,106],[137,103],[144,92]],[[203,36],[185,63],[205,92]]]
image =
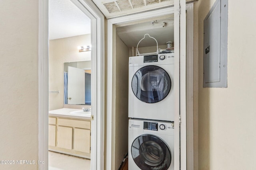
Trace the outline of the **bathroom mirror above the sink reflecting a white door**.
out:
[[[64,104],[91,105],[91,61],[64,63]]]

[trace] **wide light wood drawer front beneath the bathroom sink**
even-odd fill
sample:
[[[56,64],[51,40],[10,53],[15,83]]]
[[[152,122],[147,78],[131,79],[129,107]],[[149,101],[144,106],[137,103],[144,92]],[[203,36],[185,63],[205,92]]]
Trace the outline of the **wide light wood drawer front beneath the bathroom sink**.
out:
[[[58,118],[58,125],[69,126],[69,127],[79,127],[79,128],[83,128],[83,129],[91,129],[91,122],[90,121],[82,121],[82,120]]]

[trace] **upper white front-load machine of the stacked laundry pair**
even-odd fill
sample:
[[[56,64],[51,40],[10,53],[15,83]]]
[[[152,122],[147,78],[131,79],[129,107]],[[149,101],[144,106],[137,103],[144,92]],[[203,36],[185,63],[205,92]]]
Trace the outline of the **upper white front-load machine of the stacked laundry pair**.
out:
[[[128,117],[174,121],[174,53],[129,57]]]

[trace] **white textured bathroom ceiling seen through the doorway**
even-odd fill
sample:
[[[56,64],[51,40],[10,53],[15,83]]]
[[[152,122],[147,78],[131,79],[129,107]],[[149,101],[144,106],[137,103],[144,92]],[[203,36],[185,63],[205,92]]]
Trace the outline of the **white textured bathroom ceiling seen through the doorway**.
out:
[[[91,32],[88,18],[70,0],[49,0],[49,39]]]

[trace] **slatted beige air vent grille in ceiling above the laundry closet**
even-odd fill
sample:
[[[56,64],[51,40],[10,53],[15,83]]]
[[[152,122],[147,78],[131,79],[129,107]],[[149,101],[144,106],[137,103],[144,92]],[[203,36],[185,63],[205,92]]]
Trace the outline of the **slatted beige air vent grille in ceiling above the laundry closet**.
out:
[[[131,10],[134,8],[140,8],[143,6],[158,4],[166,1],[171,1],[171,0],[115,0],[113,2],[109,2],[103,5],[111,14],[114,12],[122,12],[126,10]]]

